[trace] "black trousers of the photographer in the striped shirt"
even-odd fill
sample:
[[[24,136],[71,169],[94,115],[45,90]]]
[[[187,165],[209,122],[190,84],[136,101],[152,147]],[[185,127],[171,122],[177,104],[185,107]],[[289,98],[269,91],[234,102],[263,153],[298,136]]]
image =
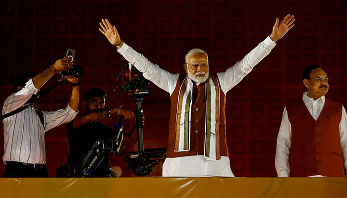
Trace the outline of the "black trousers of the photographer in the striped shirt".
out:
[[[45,165],[6,161],[2,177],[49,177]]]

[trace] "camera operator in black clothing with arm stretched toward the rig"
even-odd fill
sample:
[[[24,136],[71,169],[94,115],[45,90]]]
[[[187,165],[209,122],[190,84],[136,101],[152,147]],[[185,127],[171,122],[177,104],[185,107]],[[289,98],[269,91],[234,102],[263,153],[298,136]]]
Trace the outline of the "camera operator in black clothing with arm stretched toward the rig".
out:
[[[108,141],[115,135],[114,129],[107,127],[97,120],[109,117],[111,114],[123,115],[124,119],[134,119],[132,111],[118,107],[105,107],[107,94],[99,88],[89,89],[84,97],[83,105],[86,112],[78,114],[76,118],[67,123],[67,138],[69,142],[69,155],[67,165],[74,170],[73,177],[82,177],[83,158],[97,141]],[[112,177],[110,171],[110,157],[103,155],[97,169],[91,177]],[[71,172],[71,170],[70,170]]]

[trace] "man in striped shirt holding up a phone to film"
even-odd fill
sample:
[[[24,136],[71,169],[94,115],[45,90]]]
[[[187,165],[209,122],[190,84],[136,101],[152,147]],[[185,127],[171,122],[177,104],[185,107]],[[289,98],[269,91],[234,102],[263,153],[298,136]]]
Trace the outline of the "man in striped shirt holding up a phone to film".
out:
[[[58,59],[54,65],[34,76],[26,73],[13,82],[15,93],[3,102],[2,122],[4,134],[5,171],[3,177],[49,177],[46,169],[45,132],[71,121],[79,102],[78,78],[65,76],[72,83],[72,93],[66,108],[40,111],[35,97],[45,83],[56,73],[67,71],[73,63],[68,58]]]

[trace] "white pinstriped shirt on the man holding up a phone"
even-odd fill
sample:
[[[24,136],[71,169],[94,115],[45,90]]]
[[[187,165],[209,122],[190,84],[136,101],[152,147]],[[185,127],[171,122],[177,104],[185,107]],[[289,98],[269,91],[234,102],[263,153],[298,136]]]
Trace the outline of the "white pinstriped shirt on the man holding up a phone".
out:
[[[33,81],[29,80],[25,87],[5,99],[2,115],[9,113],[25,104],[32,95],[39,90]],[[2,120],[4,136],[4,161],[18,161],[25,163],[46,163],[45,132],[61,124],[70,122],[77,112],[67,105],[57,111],[42,111],[44,124],[31,107]]]

